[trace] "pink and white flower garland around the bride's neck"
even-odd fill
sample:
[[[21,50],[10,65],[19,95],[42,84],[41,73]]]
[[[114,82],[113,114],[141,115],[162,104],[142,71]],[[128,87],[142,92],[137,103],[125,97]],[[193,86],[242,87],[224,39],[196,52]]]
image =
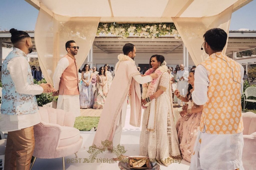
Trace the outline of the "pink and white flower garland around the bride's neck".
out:
[[[164,61],[160,67],[158,67],[156,70],[153,68],[148,69],[144,75],[150,75],[155,72],[155,74],[158,74],[157,79],[153,79],[149,84],[145,83],[142,85],[142,99],[145,99],[155,93],[156,86],[158,85],[157,82],[160,79],[160,75],[167,71],[168,67],[166,66],[166,62]],[[149,103],[146,103],[144,106],[142,106],[143,109],[146,109],[147,106],[149,106]]]

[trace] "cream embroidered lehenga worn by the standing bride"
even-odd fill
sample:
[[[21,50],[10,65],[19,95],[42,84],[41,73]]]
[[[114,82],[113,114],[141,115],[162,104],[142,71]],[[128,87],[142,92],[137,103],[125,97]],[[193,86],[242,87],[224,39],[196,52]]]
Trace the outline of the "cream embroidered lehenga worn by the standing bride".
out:
[[[169,74],[164,71],[157,83],[155,91],[161,89],[164,93],[152,100],[144,110],[140,136],[140,155],[147,156],[151,160],[156,160],[168,166],[173,161],[182,159],[172,110],[172,91]],[[148,129],[152,104],[155,104],[153,130]]]

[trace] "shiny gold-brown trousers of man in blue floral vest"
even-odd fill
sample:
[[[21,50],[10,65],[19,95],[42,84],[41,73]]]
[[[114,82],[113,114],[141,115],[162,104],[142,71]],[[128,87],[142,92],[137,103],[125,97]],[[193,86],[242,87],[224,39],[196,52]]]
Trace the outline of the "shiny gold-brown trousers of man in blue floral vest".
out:
[[[8,132],[4,169],[29,170],[34,149],[34,126]]]

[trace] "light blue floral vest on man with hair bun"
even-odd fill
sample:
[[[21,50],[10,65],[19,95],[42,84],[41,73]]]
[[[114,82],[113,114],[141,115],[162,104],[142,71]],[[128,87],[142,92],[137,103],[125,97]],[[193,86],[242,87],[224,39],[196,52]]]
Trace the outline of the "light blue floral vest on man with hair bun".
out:
[[[38,110],[38,105],[35,95],[19,94],[15,90],[13,80],[10,76],[9,70],[7,70],[8,62],[14,57],[25,57],[27,55],[22,50],[14,48],[8,56],[5,58],[2,65],[2,105],[1,113],[8,115],[22,115],[35,113]],[[28,64],[27,82],[30,85],[34,85],[33,77],[30,66]]]

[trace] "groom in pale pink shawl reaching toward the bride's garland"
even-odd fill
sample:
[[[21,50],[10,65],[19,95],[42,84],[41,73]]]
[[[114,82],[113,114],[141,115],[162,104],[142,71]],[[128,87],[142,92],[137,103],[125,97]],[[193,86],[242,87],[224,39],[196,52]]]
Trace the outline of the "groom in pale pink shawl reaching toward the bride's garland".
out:
[[[99,125],[93,140],[93,144],[101,147],[101,142],[109,140],[113,147],[120,144],[122,128],[125,123],[127,110],[127,97],[131,105],[130,125],[141,125],[141,90],[140,84],[152,81],[157,74],[142,76],[137,70],[135,62],[136,48],[127,43],[123,46],[123,53],[118,55],[118,63],[115,66],[115,77],[111,84],[108,96],[102,110]],[[113,100],[114,99],[114,100]]]

